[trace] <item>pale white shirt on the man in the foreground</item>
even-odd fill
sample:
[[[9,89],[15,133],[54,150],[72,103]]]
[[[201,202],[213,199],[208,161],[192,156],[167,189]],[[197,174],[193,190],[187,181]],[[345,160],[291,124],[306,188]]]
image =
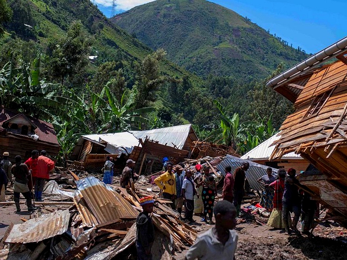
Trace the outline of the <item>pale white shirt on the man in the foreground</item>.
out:
[[[238,244],[238,234],[235,230],[229,230],[229,239],[223,245],[214,236],[212,228],[201,234],[188,250],[188,260],[233,260]]]

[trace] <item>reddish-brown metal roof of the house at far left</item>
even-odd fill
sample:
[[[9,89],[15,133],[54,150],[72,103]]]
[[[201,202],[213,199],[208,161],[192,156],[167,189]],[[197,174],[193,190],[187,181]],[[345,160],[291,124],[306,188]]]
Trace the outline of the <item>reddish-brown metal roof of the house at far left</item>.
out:
[[[4,121],[9,120],[10,118],[21,114],[18,111],[13,111],[10,109],[3,108],[0,110],[0,126]],[[29,115],[25,115],[30,121],[37,126],[35,129],[35,134],[38,135],[40,141],[47,142],[54,145],[59,145],[56,138],[56,134],[51,123],[42,121],[40,119],[34,118]],[[28,137],[28,136],[26,136]]]

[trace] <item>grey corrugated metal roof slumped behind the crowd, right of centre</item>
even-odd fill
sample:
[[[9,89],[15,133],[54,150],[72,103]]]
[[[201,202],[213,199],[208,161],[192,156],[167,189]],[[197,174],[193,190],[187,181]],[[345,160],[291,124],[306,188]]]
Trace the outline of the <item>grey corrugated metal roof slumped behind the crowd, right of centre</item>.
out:
[[[241,167],[242,163],[246,161],[247,160],[243,160],[235,156],[226,155],[224,160],[218,164],[217,168],[220,172],[225,174],[224,169],[226,166],[229,165],[232,167],[232,172],[234,172],[237,167]],[[263,188],[263,185],[260,184],[257,180],[261,176],[266,174],[266,169],[269,167],[259,163],[251,162],[251,161],[247,161],[247,162],[250,165],[250,167],[246,171],[246,177],[247,177],[248,183],[250,184],[251,188],[255,190],[261,190]],[[272,173],[274,173],[274,175],[277,175],[277,171],[278,169],[272,168]]]

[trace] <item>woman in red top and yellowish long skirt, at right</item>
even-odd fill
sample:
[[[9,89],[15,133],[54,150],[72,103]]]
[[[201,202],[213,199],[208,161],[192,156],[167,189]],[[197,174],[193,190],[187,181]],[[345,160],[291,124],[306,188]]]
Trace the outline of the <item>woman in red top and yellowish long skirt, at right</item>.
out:
[[[270,187],[274,188],[273,197],[273,210],[271,212],[270,218],[267,225],[273,228],[284,228],[284,221],[282,217],[282,197],[284,191],[284,180],[285,180],[285,170],[278,170],[278,178],[274,182],[270,183]]]

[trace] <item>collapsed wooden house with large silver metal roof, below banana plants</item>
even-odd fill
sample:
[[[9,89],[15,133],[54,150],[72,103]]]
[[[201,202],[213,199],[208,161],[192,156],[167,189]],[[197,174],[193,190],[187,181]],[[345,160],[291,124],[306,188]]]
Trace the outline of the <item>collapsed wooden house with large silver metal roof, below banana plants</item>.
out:
[[[189,157],[198,138],[191,124],[147,131],[84,135],[79,139],[70,159],[90,171],[102,168],[106,156],[125,162],[137,162],[135,170],[151,172],[154,162],[168,157],[173,162]]]

